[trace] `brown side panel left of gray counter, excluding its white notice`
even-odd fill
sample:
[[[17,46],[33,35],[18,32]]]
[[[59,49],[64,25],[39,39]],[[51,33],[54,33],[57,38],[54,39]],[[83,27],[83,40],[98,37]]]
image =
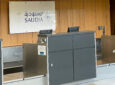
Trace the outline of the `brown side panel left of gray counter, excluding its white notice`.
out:
[[[38,55],[37,44],[24,44],[24,78],[45,75],[47,72],[47,57]]]

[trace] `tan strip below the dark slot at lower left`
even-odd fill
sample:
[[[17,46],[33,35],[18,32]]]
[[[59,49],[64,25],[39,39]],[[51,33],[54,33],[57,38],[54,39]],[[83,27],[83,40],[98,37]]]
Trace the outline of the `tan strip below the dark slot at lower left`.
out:
[[[11,81],[11,80],[17,80],[22,78],[23,78],[22,72],[4,75],[4,81]]]

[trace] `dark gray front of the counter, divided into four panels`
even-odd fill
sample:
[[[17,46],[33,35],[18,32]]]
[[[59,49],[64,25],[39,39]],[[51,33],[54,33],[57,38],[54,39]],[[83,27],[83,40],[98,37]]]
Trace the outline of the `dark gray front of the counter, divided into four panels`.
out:
[[[50,85],[96,77],[95,33],[46,35]]]

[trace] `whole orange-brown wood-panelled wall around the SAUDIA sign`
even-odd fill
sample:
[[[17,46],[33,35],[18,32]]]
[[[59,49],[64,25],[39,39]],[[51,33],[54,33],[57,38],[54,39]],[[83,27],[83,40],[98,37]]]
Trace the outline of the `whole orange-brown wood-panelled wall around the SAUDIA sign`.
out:
[[[0,38],[3,38],[3,46],[36,43],[38,33],[9,34],[8,2],[9,0],[1,0],[0,3]],[[109,0],[55,0],[55,4],[56,33],[67,32],[70,26],[80,26],[81,31],[96,31],[96,37],[101,37],[102,31],[98,30],[98,26],[104,25],[106,35],[111,34]]]

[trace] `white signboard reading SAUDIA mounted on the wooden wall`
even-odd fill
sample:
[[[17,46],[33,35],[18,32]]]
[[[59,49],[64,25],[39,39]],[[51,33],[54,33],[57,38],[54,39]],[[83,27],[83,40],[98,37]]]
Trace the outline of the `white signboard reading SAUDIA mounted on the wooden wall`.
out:
[[[55,1],[10,1],[10,33],[56,29]]]

